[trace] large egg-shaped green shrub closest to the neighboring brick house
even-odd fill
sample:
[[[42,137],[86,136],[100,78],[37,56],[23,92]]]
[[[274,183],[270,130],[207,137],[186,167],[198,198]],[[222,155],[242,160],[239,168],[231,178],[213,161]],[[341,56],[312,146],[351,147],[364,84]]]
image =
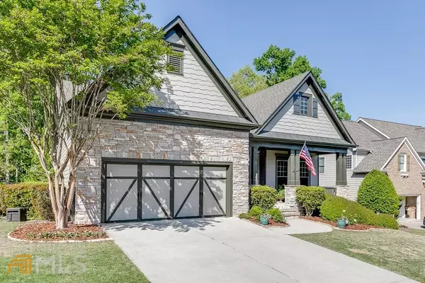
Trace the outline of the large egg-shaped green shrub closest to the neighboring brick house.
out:
[[[397,215],[399,198],[390,178],[378,170],[373,170],[361,182],[357,201],[374,212]]]

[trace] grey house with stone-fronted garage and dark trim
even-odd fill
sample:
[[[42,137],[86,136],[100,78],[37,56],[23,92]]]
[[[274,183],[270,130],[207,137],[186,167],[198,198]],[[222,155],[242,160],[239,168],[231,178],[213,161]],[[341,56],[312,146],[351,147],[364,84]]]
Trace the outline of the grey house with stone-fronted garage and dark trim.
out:
[[[249,185],[322,185],[348,197],[346,154],[356,146],[311,72],[240,100],[176,17],[158,102],[115,120],[77,171],[77,223],[233,216],[249,209]],[[225,52],[225,50],[223,50]],[[304,142],[317,175],[300,160]],[[325,161],[326,158],[326,161]]]

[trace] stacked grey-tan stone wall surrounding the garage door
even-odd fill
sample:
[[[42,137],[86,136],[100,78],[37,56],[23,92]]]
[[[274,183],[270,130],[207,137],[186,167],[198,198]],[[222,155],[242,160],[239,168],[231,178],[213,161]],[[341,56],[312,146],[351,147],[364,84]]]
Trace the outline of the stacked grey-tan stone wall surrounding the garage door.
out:
[[[76,223],[101,221],[101,158],[233,163],[233,214],[249,209],[248,132],[154,122],[114,121],[77,171]]]

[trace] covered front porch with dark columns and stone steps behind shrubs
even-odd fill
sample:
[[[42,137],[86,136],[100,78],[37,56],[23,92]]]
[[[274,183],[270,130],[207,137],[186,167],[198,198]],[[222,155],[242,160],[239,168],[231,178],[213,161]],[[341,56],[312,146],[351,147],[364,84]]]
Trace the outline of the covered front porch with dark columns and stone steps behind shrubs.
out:
[[[251,186],[268,185],[278,190],[283,189],[285,200],[276,205],[288,219],[297,218],[303,212],[295,195],[296,188],[301,185],[325,187],[330,195],[349,197],[346,173],[347,147],[321,146],[309,144],[307,141],[316,171],[314,176],[307,169],[305,161],[300,158],[303,144],[304,141],[270,142],[261,140],[251,141],[249,144],[249,184]],[[326,156],[328,161],[326,169],[322,156]],[[326,178],[326,180],[321,182],[321,178]]]

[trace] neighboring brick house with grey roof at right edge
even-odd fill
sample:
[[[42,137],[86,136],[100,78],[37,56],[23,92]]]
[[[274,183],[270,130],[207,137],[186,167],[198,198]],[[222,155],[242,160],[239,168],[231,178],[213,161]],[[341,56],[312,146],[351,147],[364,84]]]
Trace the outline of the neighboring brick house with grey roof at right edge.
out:
[[[387,173],[397,194],[405,197],[399,217],[424,217],[425,141],[419,137],[424,128],[368,118],[359,118],[357,122],[344,124],[358,144],[356,149],[348,153],[352,161],[350,170],[347,170],[351,198],[356,199],[358,187],[365,174],[377,169]],[[415,145],[411,139],[415,141]],[[418,153],[416,149],[421,151]]]

